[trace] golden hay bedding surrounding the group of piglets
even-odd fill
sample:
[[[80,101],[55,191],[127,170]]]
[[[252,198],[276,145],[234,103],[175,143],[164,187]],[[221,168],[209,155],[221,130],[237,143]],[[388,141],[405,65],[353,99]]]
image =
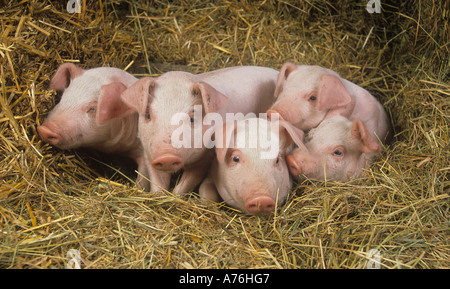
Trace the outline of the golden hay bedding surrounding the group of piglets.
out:
[[[82,268],[365,268],[371,249],[382,268],[450,267],[448,1],[81,2],[0,1],[0,268],[65,268],[69,249]],[[267,217],[139,191],[134,168],[36,132],[63,62],[142,77],[288,60],[371,91],[395,138],[365,178],[300,182]]]

